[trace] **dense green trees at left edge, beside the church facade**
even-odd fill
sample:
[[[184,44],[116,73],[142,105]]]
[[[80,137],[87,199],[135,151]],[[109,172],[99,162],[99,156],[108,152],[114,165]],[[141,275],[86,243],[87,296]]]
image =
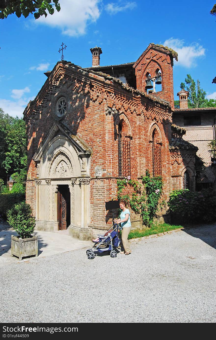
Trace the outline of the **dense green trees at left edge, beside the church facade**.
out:
[[[13,118],[0,109],[0,177],[7,179],[17,172],[22,181],[27,170],[26,126],[22,119]]]

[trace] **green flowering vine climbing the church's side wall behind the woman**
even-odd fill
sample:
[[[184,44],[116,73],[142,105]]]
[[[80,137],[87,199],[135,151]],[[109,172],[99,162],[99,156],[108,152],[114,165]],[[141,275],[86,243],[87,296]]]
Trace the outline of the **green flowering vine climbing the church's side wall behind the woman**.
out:
[[[148,170],[146,170],[146,176],[141,176],[141,179],[143,190],[142,185],[138,181],[132,180],[130,176],[117,180],[118,200],[125,200],[136,214],[140,214],[143,224],[150,227],[154,218],[157,218],[156,212],[163,183],[161,176],[151,177]],[[122,192],[128,186],[134,189],[131,197]]]

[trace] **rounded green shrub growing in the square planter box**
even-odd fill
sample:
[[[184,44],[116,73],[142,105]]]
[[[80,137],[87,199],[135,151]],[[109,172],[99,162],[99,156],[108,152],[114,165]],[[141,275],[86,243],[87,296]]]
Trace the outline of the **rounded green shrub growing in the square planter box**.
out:
[[[31,237],[34,231],[35,218],[29,204],[21,202],[7,211],[7,222],[14,228],[21,238]]]

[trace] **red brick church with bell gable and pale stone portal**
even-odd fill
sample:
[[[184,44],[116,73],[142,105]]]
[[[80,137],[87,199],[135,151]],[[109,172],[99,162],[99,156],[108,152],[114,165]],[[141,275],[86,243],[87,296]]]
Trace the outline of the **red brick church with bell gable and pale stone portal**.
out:
[[[100,47],[90,51],[92,67],[62,61],[46,72],[24,111],[36,228],[83,240],[109,229],[105,202],[117,199],[118,178],[140,181],[148,169],[162,176],[164,199],[194,190],[198,150],[172,124],[175,51],[150,44],[135,63],[111,66],[100,66]],[[131,220],[142,225],[133,212]]]

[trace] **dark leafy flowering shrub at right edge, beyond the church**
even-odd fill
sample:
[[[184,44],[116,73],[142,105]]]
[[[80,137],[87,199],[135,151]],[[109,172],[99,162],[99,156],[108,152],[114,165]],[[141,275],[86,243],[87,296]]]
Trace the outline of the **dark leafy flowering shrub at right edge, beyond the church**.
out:
[[[216,221],[216,192],[213,189],[174,190],[167,203],[172,223],[200,223]]]

